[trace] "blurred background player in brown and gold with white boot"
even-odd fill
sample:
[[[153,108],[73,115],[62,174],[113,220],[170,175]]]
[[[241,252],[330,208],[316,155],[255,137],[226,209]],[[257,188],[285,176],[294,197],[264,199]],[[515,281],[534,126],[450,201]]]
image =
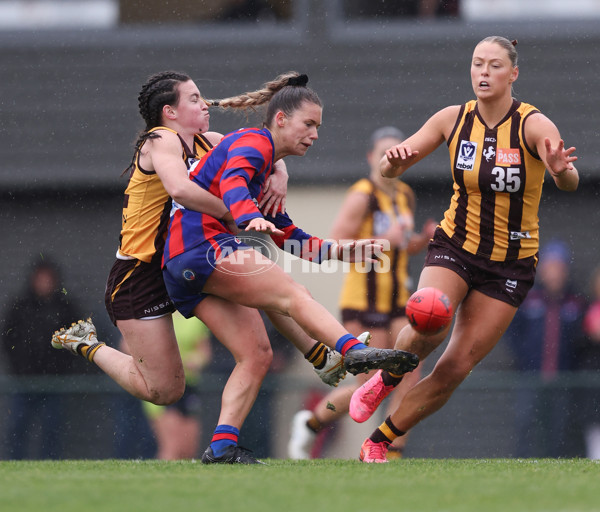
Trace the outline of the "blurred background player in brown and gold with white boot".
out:
[[[345,276],[340,295],[344,327],[350,332],[369,331],[372,347],[392,348],[406,325],[404,307],[411,293],[408,258],[426,247],[436,227],[435,221],[428,220],[422,232],[415,233],[413,190],[398,179],[384,178],[379,170],[385,150],[403,139],[402,132],[391,126],[379,128],[371,135],[367,151],[369,176],[350,188],[330,237],[338,241],[386,240],[391,247],[386,251],[391,265],[388,272],[361,272],[353,266]],[[390,412],[418,378],[419,371],[415,370],[403,379],[390,400]],[[365,375],[358,375],[350,385],[332,390],[313,411],[296,413],[288,443],[290,458],[311,458],[317,433],[348,412],[352,393],[365,381]],[[405,436],[399,437],[388,455],[400,456],[405,441]]]

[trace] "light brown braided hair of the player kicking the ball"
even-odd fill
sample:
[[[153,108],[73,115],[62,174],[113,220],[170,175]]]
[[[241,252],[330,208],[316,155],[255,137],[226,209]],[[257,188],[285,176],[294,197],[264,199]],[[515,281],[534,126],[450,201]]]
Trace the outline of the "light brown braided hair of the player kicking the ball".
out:
[[[291,115],[304,101],[322,106],[317,94],[306,87],[307,82],[306,75],[301,75],[297,71],[288,71],[266,82],[262,89],[221,100],[208,100],[208,103],[223,109],[246,111],[256,111],[256,107],[267,104],[263,126],[270,126],[279,110],[286,115]]]

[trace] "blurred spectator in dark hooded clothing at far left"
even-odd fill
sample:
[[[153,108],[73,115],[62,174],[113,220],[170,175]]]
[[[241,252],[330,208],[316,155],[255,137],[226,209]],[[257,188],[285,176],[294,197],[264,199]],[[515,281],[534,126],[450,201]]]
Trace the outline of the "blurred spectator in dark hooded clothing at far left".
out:
[[[63,288],[59,267],[48,257],[36,260],[24,290],[4,318],[2,349],[10,375],[64,377],[75,372],[75,358],[64,357],[50,345],[50,333],[57,325],[81,316],[75,303]],[[37,389],[24,389],[9,398],[5,454],[10,459],[58,459],[65,397],[56,390],[44,391],[50,386],[42,386],[39,379],[23,384]]]

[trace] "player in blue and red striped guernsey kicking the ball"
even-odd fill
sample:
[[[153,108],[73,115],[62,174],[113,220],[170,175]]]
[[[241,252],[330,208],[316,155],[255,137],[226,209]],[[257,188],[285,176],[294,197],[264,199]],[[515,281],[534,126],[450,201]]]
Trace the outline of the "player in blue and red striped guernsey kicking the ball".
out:
[[[356,261],[364,254],[372,259],[369,254],[378,246],[370,240],[340,246],[305,233],[285,213],[264,217],[257,207],[274,163],[303,156],[318,138],[321,101],[306,81],[305,75],[291,72],[242,98],[249,108],[268,103],[264,127],[226,135],[196,164],[190,178],[223,199],[240,229],[269,234],[297,256],[317,263],[331,258]],[[163,263],[165,284],[177,309],[205,322],[237,363],[223,391],[219,424],[202,456],[204,463],[259,462],[237,445],[272,358],[255,308],[292,317],[309,336],[336,348],[351,373],[372,368],[410,371],[418,363],[407,352],[366,347],[275,262],[208,214],[174,205]]]

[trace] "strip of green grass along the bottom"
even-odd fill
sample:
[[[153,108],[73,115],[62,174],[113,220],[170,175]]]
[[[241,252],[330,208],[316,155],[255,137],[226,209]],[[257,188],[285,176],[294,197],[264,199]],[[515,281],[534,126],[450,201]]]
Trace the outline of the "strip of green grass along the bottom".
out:
[[[0,462],[3,512],[600,511],[585,459]]]

